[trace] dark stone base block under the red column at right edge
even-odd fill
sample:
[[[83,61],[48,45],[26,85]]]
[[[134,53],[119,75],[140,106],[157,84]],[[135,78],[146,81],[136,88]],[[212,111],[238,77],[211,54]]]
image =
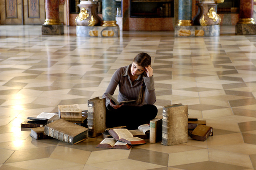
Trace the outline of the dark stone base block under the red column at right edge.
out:
[[[255,35],[256,24],[236,24],[237,35]]]

